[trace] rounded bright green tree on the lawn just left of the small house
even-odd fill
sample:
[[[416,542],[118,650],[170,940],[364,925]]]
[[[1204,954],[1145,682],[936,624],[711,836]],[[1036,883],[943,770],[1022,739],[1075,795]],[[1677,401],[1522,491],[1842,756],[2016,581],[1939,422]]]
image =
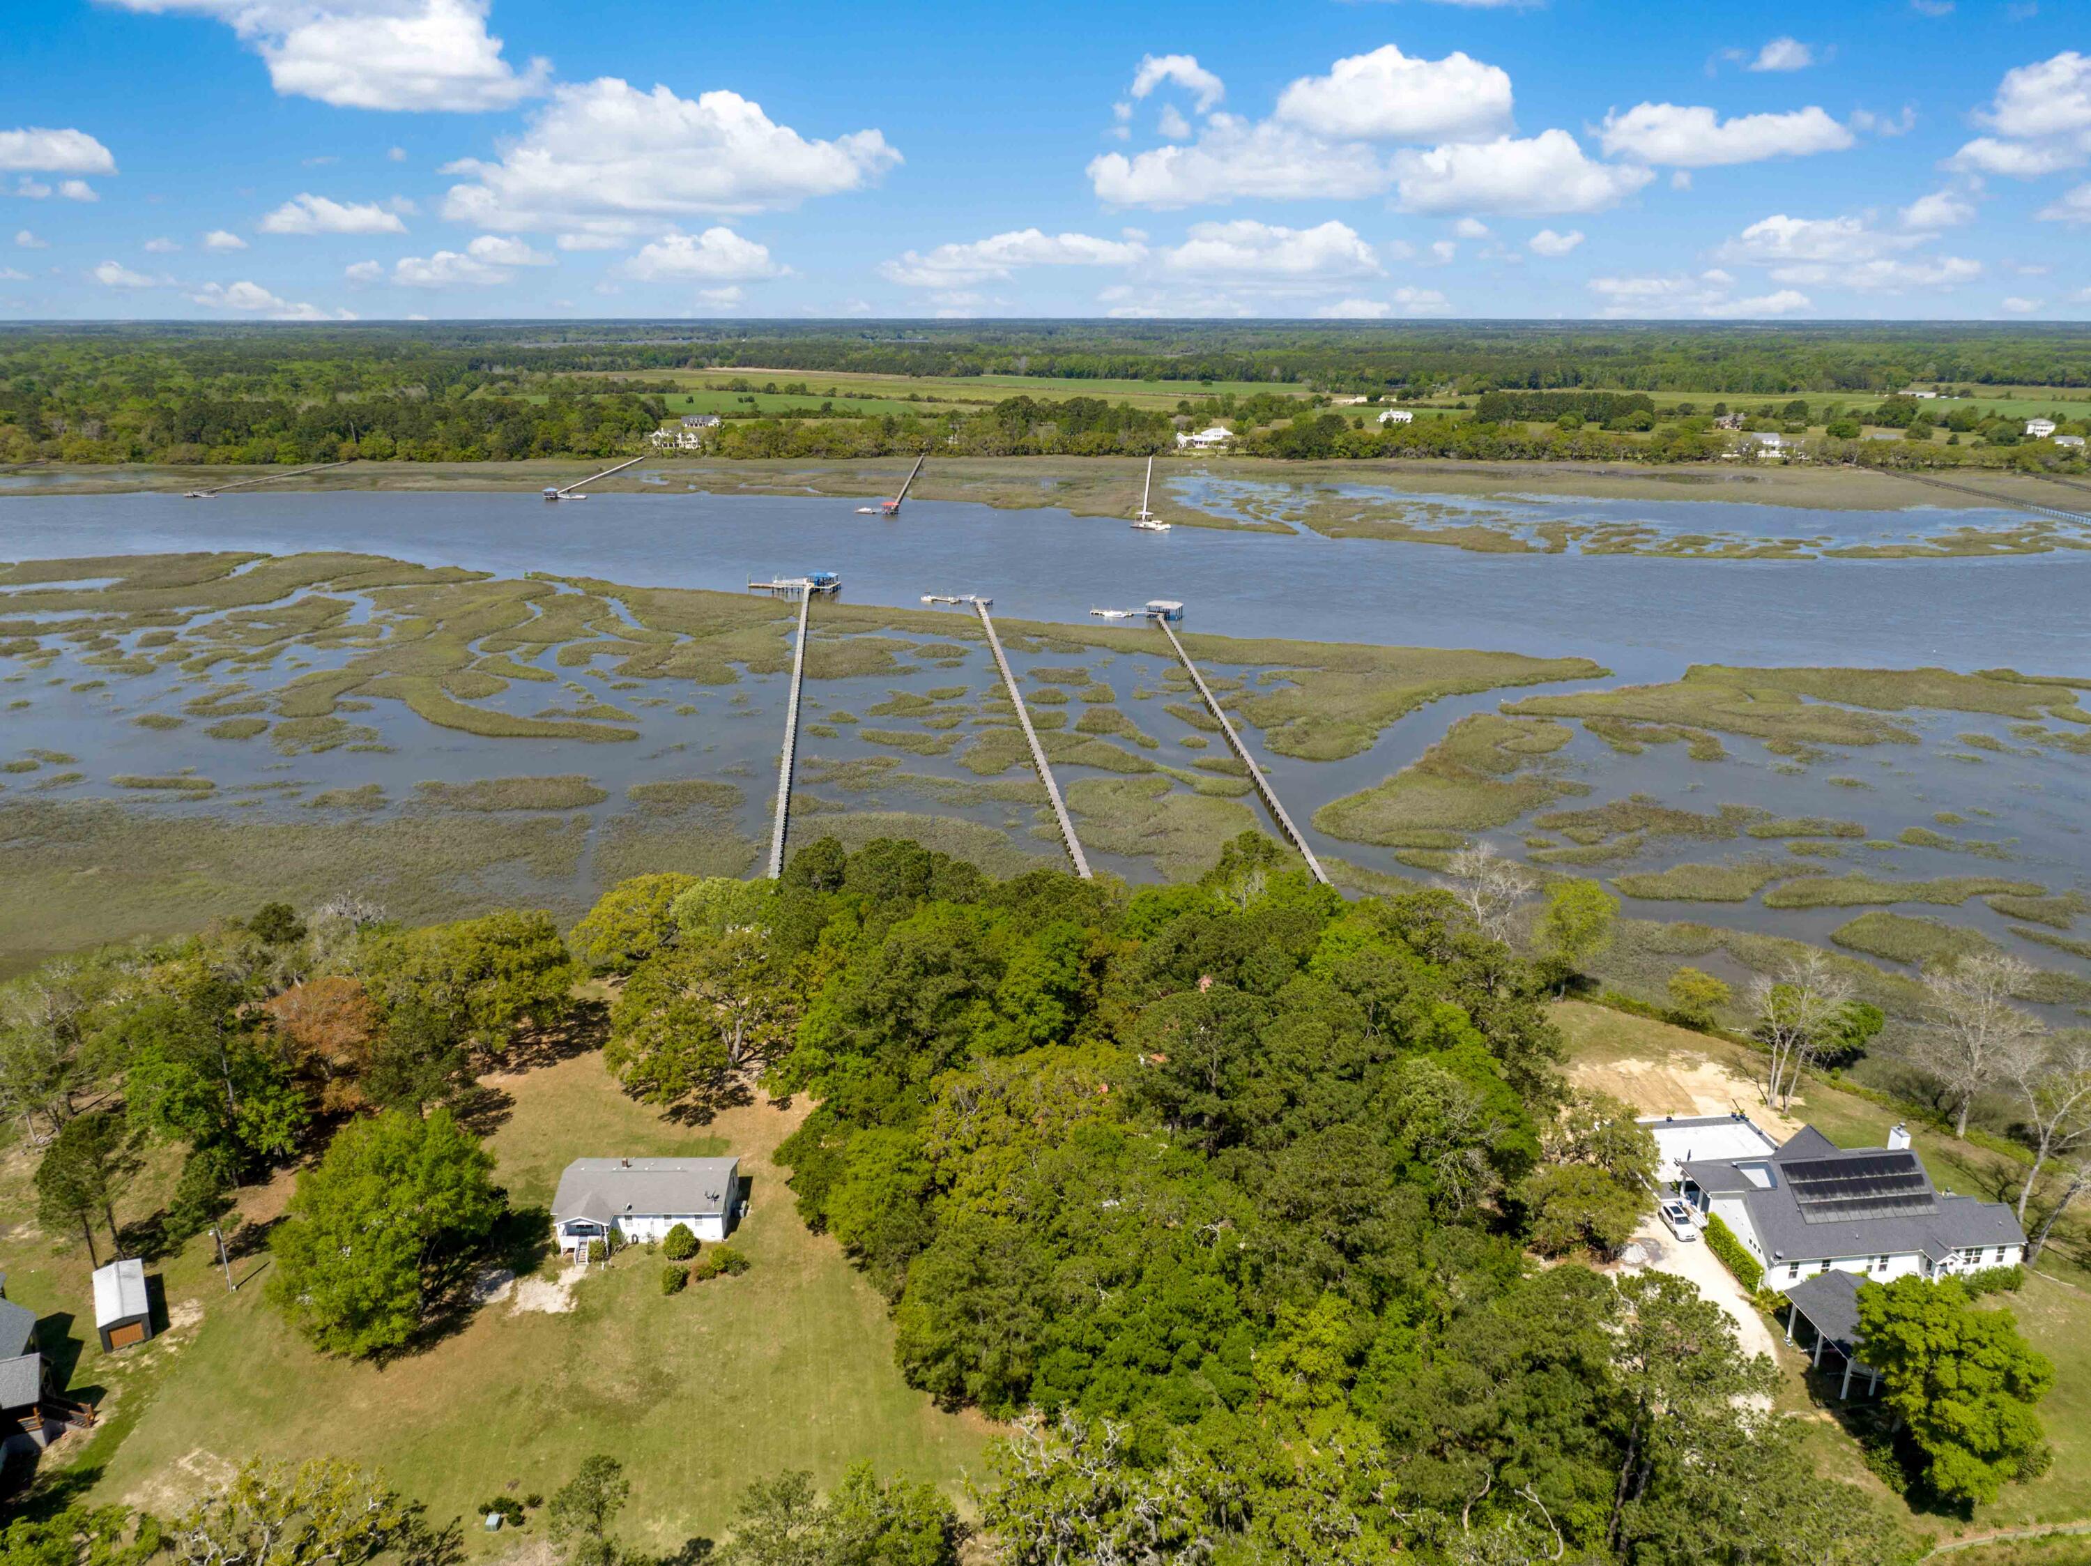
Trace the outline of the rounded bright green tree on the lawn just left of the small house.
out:
[[[491,1173],[493,1158],[450,1110],[349,1123],[299,1175],[270,1238],[270,1298],[326,1353],[404,1349],[443,1265],[468,1257],[506,1211]]]

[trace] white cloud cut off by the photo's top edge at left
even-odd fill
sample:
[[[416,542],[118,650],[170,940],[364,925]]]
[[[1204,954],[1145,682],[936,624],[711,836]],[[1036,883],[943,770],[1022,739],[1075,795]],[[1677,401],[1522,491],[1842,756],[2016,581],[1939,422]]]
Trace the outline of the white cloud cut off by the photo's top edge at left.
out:
[[[337,109],[510,109],[544,92],[548,61],[516,71],[487,33],[491,0],[115,0],[215,17],[286,96]]]

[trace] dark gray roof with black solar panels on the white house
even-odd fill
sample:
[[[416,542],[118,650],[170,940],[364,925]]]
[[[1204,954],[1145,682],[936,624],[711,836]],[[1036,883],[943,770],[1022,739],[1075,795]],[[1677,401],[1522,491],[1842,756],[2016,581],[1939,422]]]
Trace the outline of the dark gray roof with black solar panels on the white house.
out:
[[[2026,1244],[2009,1206],[1938,1192],[1907,1148],[1842,1150],[1813,1125],[1769,1158],[1690,1162],[1685,1177],[1706,1192],[1740,1194],[1756,1242],[1775,1261],[1945,1259]]]

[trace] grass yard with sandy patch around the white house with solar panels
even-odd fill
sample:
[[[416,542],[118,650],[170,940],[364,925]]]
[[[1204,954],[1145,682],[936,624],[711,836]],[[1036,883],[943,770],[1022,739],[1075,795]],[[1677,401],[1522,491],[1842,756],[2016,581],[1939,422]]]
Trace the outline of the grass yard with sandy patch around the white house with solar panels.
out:
[[[1729,1106],[1777,1135],[1779,1119],[1763,1104],[1759,1087],[1763,1058],[1727,1039],[1671,1027],[1652,1018],[1627,1016],[1604,1006],[1562,1001],[1552,1008],[1556,1024],[1568,1039],[1568,1075],[1579,1085],[1618,1093],[1646,1114],[1717,1114]],[[1899,1116],[1884,1104],[1811,1079],[1794,1104],[1794,1121],[1815,1125],[1842,1148],[1878,1148]],[[2024,1167],[1986,1148],[1955,1142],[1915,1119],[1905,1121],[1924,1167],[1940,1190],[1986,1200],[2018,1200],[2018,1179]],[[2035,1211],[2028,1219],[2037,1219]],[[2030,1223],[2028,1223],[2030,1227]],[[2041,1420],[2055,1449],[2055,1461],[2030,1484],[2009,1484],[2003,1495],[1980,1507],[1972,1520],[1911,1516],[1917,1530],[1940,1539],[2055,1522],[2091,1520],[2091,1271],[2085,1267],[2085,1217],[2074,1215],[2058,1227],[2041,1257],[2041,1271],[2026,1280],[2018,1294],[1991,1296],[2009,1309],[2026,1338],[2055,1363],[2055,1388],[2041,1403]],[[1821,1455],[1823,1472],[1880,1489],[1863,1464],[1859,1449],[1842,1428],[1828,1418],[1819,1401],[1821,1386],[1809,1395],[1800,1369],[1805,1357],[1788,1355],[1782,1407],[1813,1415],[1811,1441]],[[1830,1386],[1828,1392],[1836,1388]]]

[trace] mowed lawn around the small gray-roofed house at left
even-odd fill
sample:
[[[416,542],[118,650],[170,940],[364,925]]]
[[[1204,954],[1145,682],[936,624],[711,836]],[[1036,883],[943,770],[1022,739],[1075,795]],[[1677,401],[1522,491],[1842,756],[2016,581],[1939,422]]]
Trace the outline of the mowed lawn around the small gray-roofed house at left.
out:
[[[548,1202],[581,1154],[738,1152],[753,1204],[734,1244],[753,1269],[669,1298],[665,1261],[634,1248],[581,1280],[565,1313],[487,1305],[387,1367],[322,1359],[259,1280],[226,1298],[205,1275],[207,1317],[165,1361],[151,1403],[119,1445],[84,1453],[100,1468],[92,1499],[169,1507],[255,1453],[337,1455],[383,1470],[445,1520],[500,1493],[550,1495],[606,1451],[631,1478],[627,1543],[667,1551],[717,1537],[751,1478],[790,1468],[828,1487],[872,1459],[960,1495],[989,1428],[901,1382],[884,1303],[799,1221],[769,1162],[797,1114],[757,1106],[682,1129],[623,1098],[596,1054],[489,1083],[514,1100],[489,1146],[519,1206]],[[525,1286],[554,1275],[548,1265]]]

